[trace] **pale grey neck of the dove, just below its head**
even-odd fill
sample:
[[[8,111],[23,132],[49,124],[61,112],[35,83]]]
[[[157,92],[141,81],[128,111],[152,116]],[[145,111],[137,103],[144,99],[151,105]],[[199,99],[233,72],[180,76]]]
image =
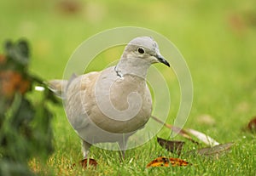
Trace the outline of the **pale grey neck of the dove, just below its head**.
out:
[[[114,70],[119,77],[123,77],[125,75],[133,75],[146,79],[149,66],[150,63],[143,59],[122,58],[115,66]]]

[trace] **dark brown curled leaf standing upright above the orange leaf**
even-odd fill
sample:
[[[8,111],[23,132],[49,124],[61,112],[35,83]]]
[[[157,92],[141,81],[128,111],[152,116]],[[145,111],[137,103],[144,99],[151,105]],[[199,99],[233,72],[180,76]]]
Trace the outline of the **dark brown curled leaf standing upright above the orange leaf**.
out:
[[[171,151],[172,153],[177,153],[177,155],[180,155],[181,151],[183,150],[183,141],[177,141],[177,140],[166,140],[161,139],[157,137],[157,142],[166,150]]]

